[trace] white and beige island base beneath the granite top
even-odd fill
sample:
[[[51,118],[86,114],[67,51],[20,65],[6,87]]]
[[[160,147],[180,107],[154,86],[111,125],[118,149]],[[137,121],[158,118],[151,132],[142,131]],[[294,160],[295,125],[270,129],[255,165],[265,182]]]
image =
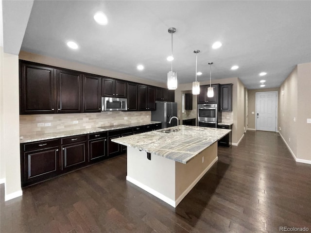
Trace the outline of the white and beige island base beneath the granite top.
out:
[[[176,207],[217,160],[217,141],[187,164],[127,147],[126,180]]]

